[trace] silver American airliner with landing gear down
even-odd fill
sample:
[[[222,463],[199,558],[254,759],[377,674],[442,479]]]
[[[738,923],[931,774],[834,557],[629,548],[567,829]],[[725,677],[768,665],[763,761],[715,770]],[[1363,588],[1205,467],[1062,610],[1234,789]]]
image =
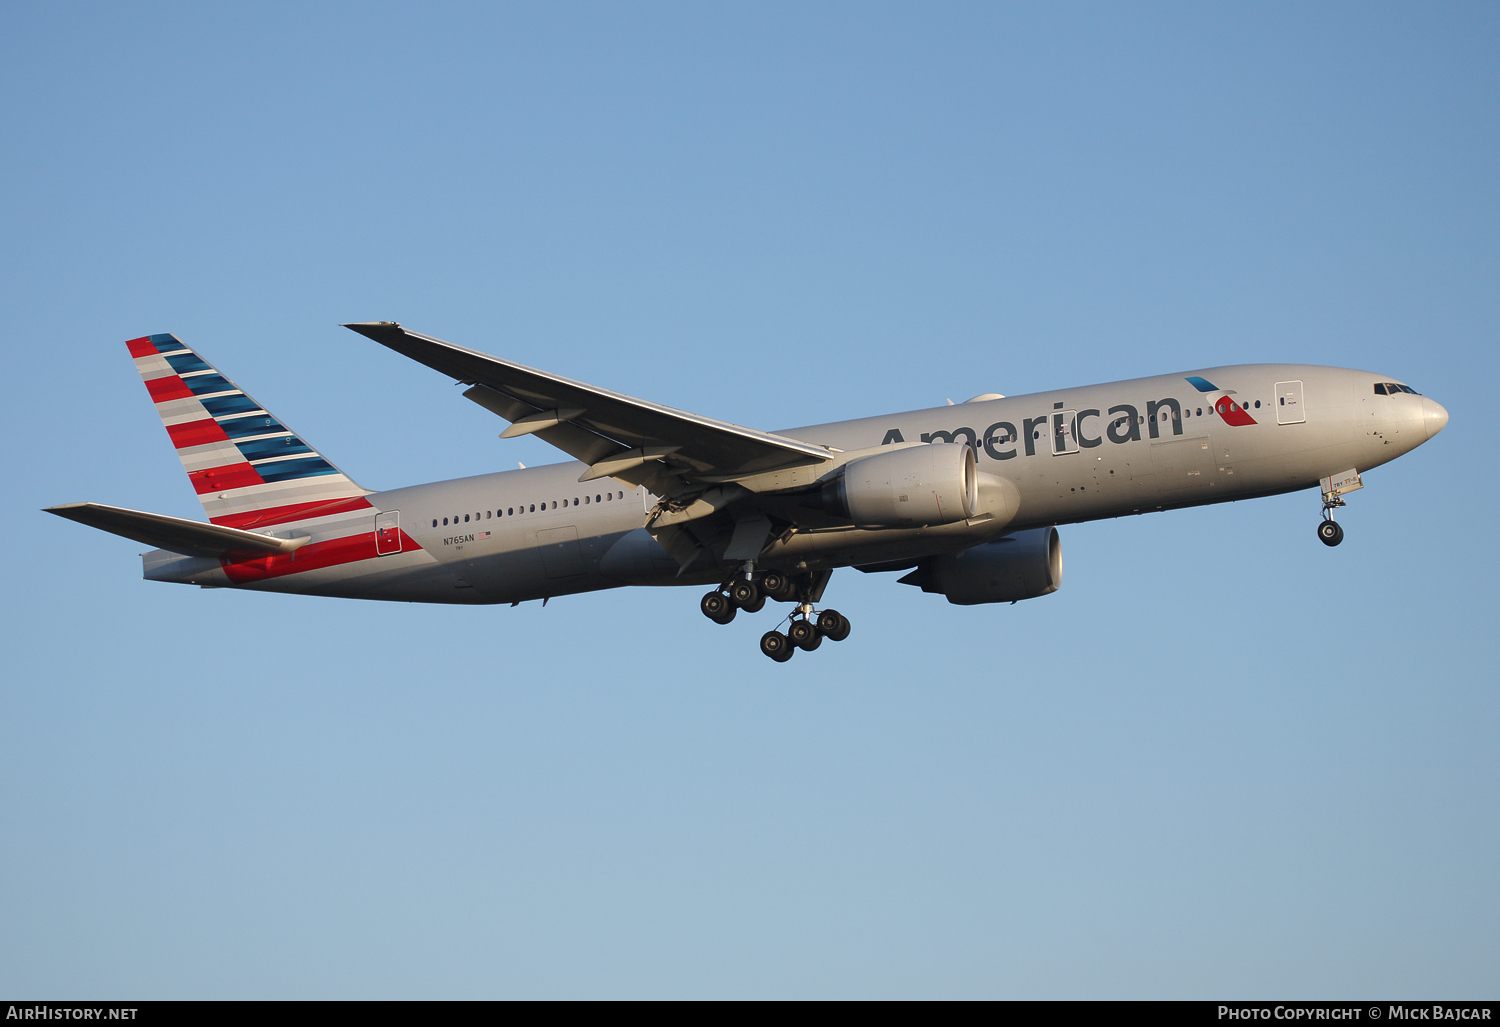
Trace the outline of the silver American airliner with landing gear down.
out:
[[[766,600],[782,663],[849,621],[836,568],[908,571],[950,603],[1058,591],[1058,525],[1320,487],[1317,535],[1360,474],[1448,411],[1389,375],[1304,364],[1178,375],[762,432],[465,349],[393,321],[345,325],[454,378],[573,457],[362,489],[171,334],[126,343],[208,523],[93,502],[48,511],[156,546],[144,576],[405,603],[510,603],[621,585],[712,586],[729,624]],[[780,625],[777,625],[780,627]]]

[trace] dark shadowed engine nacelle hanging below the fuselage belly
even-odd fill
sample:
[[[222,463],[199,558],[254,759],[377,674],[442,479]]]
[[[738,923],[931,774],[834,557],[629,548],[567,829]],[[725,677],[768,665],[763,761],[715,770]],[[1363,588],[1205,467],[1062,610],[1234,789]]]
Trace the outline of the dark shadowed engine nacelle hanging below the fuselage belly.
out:
[[[1062,586],[1062,540],[1056,528],[1017,531],[962,553],[928,556],[902,579],[954,606],[1017,603]]]

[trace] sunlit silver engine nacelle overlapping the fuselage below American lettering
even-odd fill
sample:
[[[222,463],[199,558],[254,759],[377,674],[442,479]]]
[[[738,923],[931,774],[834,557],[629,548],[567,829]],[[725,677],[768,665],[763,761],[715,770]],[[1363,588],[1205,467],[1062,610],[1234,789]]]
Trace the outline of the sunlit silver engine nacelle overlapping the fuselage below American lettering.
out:
[[[861,528],[968,520],[980,507],[974,450],[958,442],[930,442],[850,460],[824,484],[822,507]]]

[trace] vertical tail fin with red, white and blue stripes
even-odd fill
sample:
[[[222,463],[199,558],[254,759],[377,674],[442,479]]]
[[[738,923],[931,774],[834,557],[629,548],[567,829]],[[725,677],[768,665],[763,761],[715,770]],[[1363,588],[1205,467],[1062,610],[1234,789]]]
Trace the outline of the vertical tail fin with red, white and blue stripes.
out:
[[[177,336],[124,343],[208,520],[249,528],[369,507],[321,453]]]

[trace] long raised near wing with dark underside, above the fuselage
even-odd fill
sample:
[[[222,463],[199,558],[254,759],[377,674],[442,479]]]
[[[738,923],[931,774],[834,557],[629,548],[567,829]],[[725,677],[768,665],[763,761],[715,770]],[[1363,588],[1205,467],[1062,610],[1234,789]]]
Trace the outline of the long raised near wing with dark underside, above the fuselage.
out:
[[[512,421],[504,438],[536,433],[588,463],[580,481],[608,475],[675,495],[700,487],[692,484],[699,480],[832,459],[819,445],[576,382],[408,331],[394,321],[344,327],[472,385],[464,393],[468,399]]]

